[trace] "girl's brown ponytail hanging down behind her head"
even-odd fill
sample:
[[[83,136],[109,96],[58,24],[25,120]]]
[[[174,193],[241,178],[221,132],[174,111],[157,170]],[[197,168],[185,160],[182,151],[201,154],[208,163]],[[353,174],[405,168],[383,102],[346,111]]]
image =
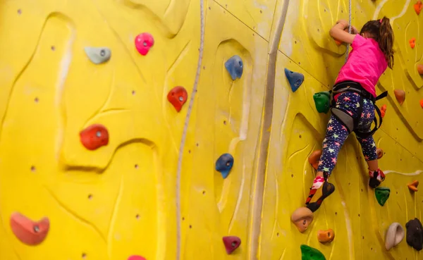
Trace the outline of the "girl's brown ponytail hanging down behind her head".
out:
[[[379,27],[379,37],[377,37],[377,42],[379,43],[379,48],[385,54],[386,61],[388,62],[388,67],[393,67],[393,30],[391,23],[389,23],[389,18],[381,18],[379,20],[381,23]]]

